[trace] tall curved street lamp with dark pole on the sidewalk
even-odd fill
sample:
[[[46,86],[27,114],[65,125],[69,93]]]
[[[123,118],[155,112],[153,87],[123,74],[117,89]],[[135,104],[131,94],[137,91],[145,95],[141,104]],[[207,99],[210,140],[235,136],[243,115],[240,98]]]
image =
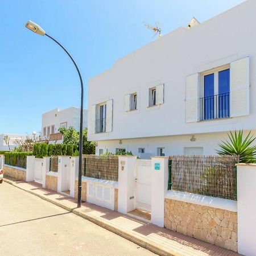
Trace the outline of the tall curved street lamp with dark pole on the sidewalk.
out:
[[[52,39],[55,43],[59,44],[59,46],[63,48],[64,51],[67,53],[67,55],[70,57],[70,59],[72,60],[73,64],[76,67],[77,73],[79,74],[79,78],[81,82],[81,109],[80,109],[80,133],[79,133],[79,180],[78,180],[78,189],[77,189],[77,207],[79,208],[81,207],[81,192],[82,192],[82,186],[81,186],[81,183],[82,183],[82,119],[83,119],[83,113],[84,113],[84,106],[83,106],[84,105],[84,85],[82,84],[81,73],[75,63],[75,60],[73,60],[69,52],[63,46],[61,46],[61,44],[57,42],[57,40],[47,35],[46,31],[44,31],[42,27],[40,27],[35,22],[32,22],[31,20],[28,20],[25,26],[26,28],[35,32],[36,34],[43,35],[43,36],[46,35],[48,38]]]

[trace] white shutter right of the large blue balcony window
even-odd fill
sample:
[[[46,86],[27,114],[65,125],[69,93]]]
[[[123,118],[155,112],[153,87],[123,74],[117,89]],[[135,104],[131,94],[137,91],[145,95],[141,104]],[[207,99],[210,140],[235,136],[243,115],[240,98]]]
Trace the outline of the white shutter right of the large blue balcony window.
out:
[[[249,115],[249,57],[230,64],[230,116]]]

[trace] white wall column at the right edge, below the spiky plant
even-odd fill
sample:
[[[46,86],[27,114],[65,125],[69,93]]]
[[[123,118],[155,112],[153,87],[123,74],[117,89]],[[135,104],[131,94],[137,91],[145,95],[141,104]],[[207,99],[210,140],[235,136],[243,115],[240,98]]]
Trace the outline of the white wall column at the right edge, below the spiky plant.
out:
[[[256,255],[256,164],[237,164],[238,253]]]

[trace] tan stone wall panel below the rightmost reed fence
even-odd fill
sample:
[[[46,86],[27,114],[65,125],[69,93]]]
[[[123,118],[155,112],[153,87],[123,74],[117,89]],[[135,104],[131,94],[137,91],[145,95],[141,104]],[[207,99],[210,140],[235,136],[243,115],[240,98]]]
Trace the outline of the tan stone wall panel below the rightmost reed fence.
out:
[[[237,212],[165,199],[164,227],[237,251]]]

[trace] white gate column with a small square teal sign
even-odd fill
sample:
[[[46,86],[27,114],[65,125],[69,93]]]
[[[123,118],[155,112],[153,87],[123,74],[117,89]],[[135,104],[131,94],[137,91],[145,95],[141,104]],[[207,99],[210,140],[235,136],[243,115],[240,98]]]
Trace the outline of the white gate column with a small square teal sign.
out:
[[[151,176],[151,222],[164,226],[164,197],[168,188],[168,156],[154,156]]]

